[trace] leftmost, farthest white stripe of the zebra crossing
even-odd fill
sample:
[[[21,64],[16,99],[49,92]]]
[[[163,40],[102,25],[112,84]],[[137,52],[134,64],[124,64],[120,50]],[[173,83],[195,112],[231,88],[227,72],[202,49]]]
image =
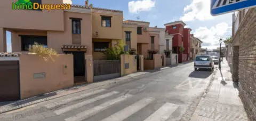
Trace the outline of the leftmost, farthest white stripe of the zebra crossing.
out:
[[[89,93],[86,93],[86,94],[77,95],[75,97],[68,98],[68,99],[65,99],[65,100],[61,100],[59,102],[54,102],[54,103],[51,103],[51,104],[47,104],[45,107],[48,108],[48,109],[54,108],[54,107],[57,107],[57,106],[60,106],[62,104],[66,104],[66,103],[69,103],[69,102],[72,102],[72,101],[75,101],[75,100],[87,98],[88,96],[91,96],[91,95],[94,95],[94,94],[98,94],[98,93],[101,93],[103,91],[106,91],[106,90],[101,89],[101,90],[89,92]]]

